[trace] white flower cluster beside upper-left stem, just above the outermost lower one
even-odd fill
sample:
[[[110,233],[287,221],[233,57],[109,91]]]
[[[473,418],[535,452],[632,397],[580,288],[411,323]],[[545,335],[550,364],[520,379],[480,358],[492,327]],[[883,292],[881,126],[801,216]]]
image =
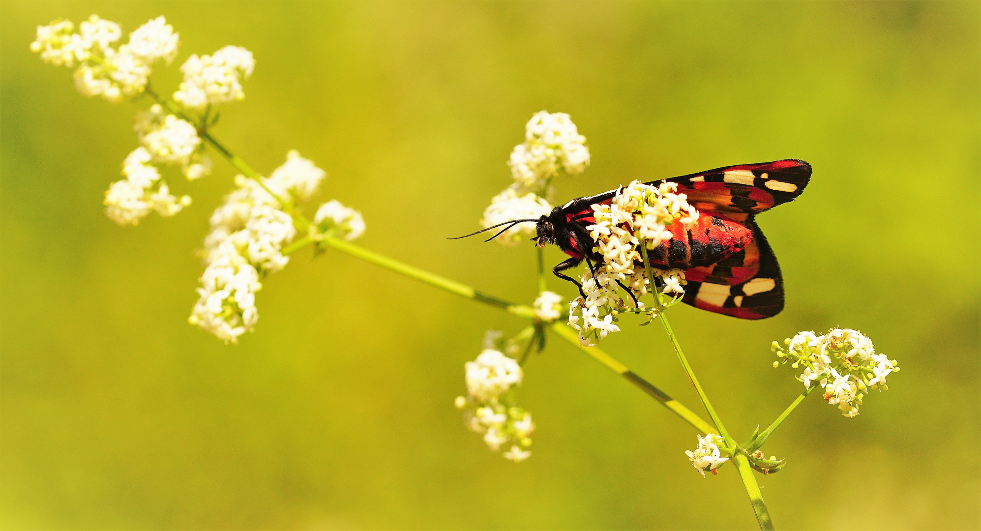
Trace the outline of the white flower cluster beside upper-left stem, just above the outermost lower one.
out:
[[[211,173],[211,159],[201,154],[204,145],[197,130],[190,122],[165,113],[160,105],[137,113],[133,131],[154,162],[180,165],[191,181]]]

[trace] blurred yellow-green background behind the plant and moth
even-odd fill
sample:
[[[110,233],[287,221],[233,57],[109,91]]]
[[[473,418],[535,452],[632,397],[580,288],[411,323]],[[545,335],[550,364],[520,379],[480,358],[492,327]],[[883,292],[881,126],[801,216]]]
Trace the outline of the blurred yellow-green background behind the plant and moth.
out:
[[[232,186],[133,229],[102,213],[132,115],[41,63],[39,24],[165,15],[181,55],[255,53],[215,134],[270,172],[296,148],[360,209],[359,242],[531,302],[531,244],[477,228],[536,111],[567,112],[593,164],[558,200],[799,157],[799,201],[760,218],[788,303],[745,322],[672,319],[729,429],[800,391],[768,345],[857,328],[903,372],[843,418],[809,398],[765,449],[779,527],[976,529],[979,484],[977,2],[11,2],[2,4],[2,403],[6,529],[751,529],[732,467],[703,480],[695,431],[553,338],[526,367],[521,464],[467,432],[453,398],[489,328],[517,319],[338,252],[299,252],[240,345],[189,326],[193,251]],[[562,259],[557,249],[549,263]],[[560,281],[556,291],[572,294]],[[603,347],[697,409],[664,335]],[[697,409],[700,411],[700,409]],[[705,415],[703,415],[705,416]]]

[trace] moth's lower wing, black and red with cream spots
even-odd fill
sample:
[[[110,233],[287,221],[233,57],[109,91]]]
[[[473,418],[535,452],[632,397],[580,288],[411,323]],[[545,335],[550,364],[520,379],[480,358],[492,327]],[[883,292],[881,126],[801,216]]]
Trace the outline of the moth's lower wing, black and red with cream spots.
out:
[[[700,277],[701,280],[688,281],[683,302],[740,319],[765,319],[784,309],[784,279],[780,264],[752,218],[748,225],[752,226],[752,241],[746,252],[736,253],[712,266],[688,270],[687,279]],[[753,258],[755,264],[751,264]],[[749,280],[745,276],[739,278],[741,271],[749,271],[748,266],[754,266],[755,272]],[[732,284],[733,281],[738,284]]]

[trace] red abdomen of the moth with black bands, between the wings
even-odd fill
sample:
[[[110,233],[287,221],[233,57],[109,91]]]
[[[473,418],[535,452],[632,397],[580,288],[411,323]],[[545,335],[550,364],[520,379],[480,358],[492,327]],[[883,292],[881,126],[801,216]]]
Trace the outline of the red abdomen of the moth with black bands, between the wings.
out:
[[[671,239],[650,252],[651,264],[682,269],[708,266],[745,249],[752,240],[752,231],[743,225],[705,213],[689,230],[678,223],[670,230]]]

